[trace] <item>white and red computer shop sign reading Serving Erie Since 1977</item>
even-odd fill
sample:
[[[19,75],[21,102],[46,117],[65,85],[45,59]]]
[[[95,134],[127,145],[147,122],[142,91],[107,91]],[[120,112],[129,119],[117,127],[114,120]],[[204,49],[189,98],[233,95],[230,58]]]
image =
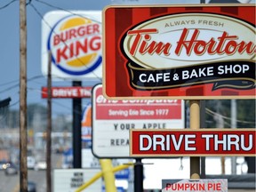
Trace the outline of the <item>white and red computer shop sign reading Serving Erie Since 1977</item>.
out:
[[[183,100],[107,100],[92,88],[92,153],[129,157],[129,130],[184,128]]]

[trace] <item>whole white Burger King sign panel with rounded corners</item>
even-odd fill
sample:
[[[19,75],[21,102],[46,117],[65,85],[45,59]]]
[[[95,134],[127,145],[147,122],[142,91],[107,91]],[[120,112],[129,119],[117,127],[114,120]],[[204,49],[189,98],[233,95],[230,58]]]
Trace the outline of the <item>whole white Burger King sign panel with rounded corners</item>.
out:
[[[48,12],[42,22],[42,72],[52,78],[101,78],[101,12]]]

